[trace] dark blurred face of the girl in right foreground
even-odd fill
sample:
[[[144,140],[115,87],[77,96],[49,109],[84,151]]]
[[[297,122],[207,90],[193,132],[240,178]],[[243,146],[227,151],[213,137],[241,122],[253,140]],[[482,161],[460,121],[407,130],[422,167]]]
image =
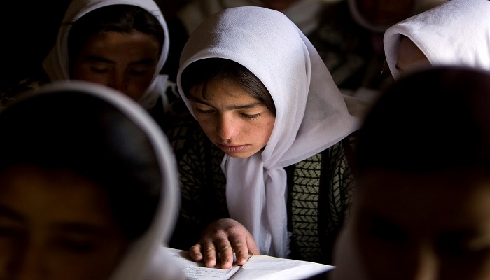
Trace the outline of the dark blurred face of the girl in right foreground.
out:
[[[358,279],[490,279],[484,173],[370,172],[351,225],[367,274]]]

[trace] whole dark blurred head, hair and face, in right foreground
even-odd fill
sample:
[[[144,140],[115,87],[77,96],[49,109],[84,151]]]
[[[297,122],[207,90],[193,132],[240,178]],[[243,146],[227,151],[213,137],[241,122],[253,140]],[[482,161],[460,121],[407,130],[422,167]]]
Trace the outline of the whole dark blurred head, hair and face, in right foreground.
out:
[[[334,279],[490,278],[490,73],[405,76],[360,130]]]

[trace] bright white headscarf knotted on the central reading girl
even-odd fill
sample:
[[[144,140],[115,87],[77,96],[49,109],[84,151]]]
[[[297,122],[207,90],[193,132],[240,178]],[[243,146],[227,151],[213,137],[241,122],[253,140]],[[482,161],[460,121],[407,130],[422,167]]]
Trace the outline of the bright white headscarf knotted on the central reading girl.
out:
[[[286,257],[286,172],[283,167],[329,148],[358,129],[323,60],[286,15],[260,7],[228,8],[191,34],[177,76],[199,59],[230,59],[252,71],[276,106],[274,130],[262,153],[225,156],[231,218],[246,226],[260,253]],[[353,110],[355,111],[355,110]]]

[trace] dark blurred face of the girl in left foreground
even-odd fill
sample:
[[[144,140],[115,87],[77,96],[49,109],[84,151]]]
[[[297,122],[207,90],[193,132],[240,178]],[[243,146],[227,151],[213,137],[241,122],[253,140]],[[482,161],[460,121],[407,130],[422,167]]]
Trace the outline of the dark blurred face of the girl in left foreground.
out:
[[[127,239],[99,186],[26,166],[0,182],[0,279],[108,279]]]

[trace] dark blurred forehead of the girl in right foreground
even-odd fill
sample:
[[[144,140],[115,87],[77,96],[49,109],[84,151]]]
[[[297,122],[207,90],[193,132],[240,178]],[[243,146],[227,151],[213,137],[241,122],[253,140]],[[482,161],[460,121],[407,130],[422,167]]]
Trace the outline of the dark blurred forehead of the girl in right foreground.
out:
[[[490,179],[483,172],[363,176],[358,206],[408,228],[490,228]]]

